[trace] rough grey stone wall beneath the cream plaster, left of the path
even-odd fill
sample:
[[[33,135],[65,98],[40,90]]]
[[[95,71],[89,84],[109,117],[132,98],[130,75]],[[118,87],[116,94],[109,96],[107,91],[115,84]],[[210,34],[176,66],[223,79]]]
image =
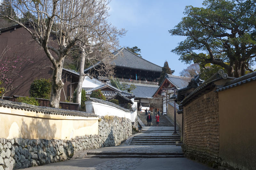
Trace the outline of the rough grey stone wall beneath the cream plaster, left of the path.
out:
[[[100,117],[98,135],[76,136],[71,140],[0,139],[0,170],[20,169],[65,161],[79,150],[115,146],[132,135],[131,120]]]

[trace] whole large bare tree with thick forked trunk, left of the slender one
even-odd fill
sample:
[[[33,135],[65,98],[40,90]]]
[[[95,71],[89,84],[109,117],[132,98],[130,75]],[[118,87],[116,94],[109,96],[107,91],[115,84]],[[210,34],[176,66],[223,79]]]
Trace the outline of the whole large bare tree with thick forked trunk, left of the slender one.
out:
[[[104,8],[103,6],[108,4],[108,1],[10,0],[10,2],[12,8],[16,10],[17,17],[8,15],[8,13],[1,13],[1,16],[24,27],[36,43],[44,49],[53,65],[50,105],[59,107],[60,91],[64,85],[61,81],[64,59],[77,42],[81,42],[81,46],[85,45],[85,47],[94,47],[94,43],[100,42],[100,40],[91,39],[93,34],[89,33],[94,30],[94,34],[96,34],[97,29],[102,27],[101,24],[99,27],[93,27],[88,33],[83,32],[86,28],[91,27],[93,23],[90,20],[94,21],[91,17],[99,12],[93,10]],[[102,4],[103,6],[97,6]],[[100,29],[100,31],[105,30]],[[86,39],[86,36],[83,35],[88,35],[89,38]],[[86,53],[86,51],[84,52]]]

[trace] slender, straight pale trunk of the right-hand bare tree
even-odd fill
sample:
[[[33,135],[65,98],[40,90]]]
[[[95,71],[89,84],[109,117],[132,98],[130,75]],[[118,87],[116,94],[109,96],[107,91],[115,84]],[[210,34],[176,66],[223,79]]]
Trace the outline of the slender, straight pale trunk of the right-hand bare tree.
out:
[[[85,47],[82,46],[81,49],[81,60],[80,60],[80,71],[79,71],[79,81],[76,88],[76,103],[79,103],[79,110],[81,109],[81,96],[82,96],[82,84],[84,80],[84,62],[85,62]]]

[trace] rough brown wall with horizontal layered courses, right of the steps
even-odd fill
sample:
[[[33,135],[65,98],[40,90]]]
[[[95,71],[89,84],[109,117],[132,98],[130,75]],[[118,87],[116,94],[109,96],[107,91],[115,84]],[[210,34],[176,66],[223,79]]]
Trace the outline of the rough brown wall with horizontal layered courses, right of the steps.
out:
[[[219,160],[219,101],[211,91],[184,106],[182,149],[188,158],[215,166]]]

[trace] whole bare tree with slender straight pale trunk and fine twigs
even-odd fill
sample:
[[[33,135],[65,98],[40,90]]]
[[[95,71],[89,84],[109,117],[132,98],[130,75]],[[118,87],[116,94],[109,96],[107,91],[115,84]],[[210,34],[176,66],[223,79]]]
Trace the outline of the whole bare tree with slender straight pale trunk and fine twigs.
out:
[[[97,70],[100,73],[113,74],[111,62],[114,59],[113,51],[119,45],[118,36],[126,33],[124,29],[118,30],[107,22],[108,18],[108,1],[92,1],[81,11],[83,17],[76,17],[77,24],[80,25],[76,46],[81,51],[79,81],[76,89],[76,103],[81,106],[82,83],[84,76],[93,76],[84,74],[84,63],[87,61],[91,65],[95,62],[101,62],[103,67]],[[99,70],[101,69],[101,70]]]

